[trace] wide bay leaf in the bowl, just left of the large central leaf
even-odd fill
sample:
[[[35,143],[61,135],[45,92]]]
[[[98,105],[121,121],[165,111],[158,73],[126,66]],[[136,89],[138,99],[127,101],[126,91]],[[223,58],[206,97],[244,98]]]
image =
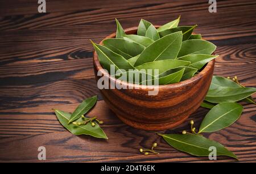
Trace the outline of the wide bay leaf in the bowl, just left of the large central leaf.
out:
[[[106,48],[112,50],[113,52],[120,54],[122,57],[129,59],[138,54],[141,54],[144,50],[144,46],[134,41],[129,41],[120,38],[110,38],[103,41]]]

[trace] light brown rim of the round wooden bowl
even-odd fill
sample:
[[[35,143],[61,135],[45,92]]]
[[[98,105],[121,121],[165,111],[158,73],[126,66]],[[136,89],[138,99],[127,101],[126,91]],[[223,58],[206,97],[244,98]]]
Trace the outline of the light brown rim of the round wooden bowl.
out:
[[[155,26],[156,28],[159,28],[160,26]],[[124,29],[125,32],[134,32],[137,31],[138,27],[130,27],[130,28],[126,28]],[[109,36],[106,36],[103,40],[101,40],[100,45],[103,45],[103,41],[109,38],[115,38],[115,33],[110,34]],[[214,53],[213,53],[214,54]],[[172,83],[172,84],[162,84],[162,85],[158,85],[159,90],[162,88],[177,88],[177,87],[183,87],[183,86],[187,86],[187,84],[189,83],[193,83],[196,80],[200,79],[201,77],[203,77],[205,74],[207,74],[207,72],[211,69],[212,66],[214,66],[214,62],[215,60],[213,59],[212,61],[208,62],[207,65],[204,67],[203,70],[200,71],[200,73],[198,73],[196,76],[189,78],[187,80],[183,80],[181,82],[177,82],[177,83]],[[114,77],[112,77],[107,71],[105,71],[105,69],[101,66],[100,60],[98,60],[98,55],[96,53],[96,50],[94,50],[93,52],[93,64],[94,67],[96,67],[97,71],[101,71],[101,74],[106,76],[108,79],[112,80],[115,83],[127,86],[127,89],[130,89],[130,87],[132,87],[132,89],[143,89],[143,90],[152,90],[152,88],[154,88],[154,85],[143,85],[143,84],[135,84],[135,83],[130,83],[130,82],[126,82],[123,80],[119,80],[116,79]],[[214,67],[213,67],[214,68]],[[95,74],[97,76],[97,74]]]

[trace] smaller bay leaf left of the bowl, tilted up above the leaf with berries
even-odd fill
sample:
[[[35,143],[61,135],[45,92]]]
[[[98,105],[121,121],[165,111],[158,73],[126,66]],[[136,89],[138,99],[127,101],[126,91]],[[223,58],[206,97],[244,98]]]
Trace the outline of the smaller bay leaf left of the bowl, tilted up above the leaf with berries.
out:
[[[72,113],[70,120],[68,122],[71,123],[72,121],[77,120],[80,118],[83,114],[86,114],[97,102],[97,95],[89,97],[88,99],[85,99],[82,101],[81,104],[76,108],[76,110]]]

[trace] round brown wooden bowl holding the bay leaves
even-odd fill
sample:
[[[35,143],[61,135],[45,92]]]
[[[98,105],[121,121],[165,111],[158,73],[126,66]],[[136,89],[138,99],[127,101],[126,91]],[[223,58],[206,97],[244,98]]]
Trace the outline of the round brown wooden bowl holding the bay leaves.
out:
[[[135,34],[137,28],[127,28],[125,32]],[[115,33],[112,33],[105,39],[114,37]],[[120,120],[138,129],[164,130],[180,125],[200,107],[212,80],[214,60],[191,79],[160,85],[157,95],[148,95],[148,91],[152,91],[148,86],[121,82],[119,79],[110,77],[101,66],[96,52],[93,53],[93,65],[96,80],[102,77],[97,76],[97,72],[101,71],[102,75],[109,80],[109,84],[118,82],[132,88],[100,90],[105,102]]]

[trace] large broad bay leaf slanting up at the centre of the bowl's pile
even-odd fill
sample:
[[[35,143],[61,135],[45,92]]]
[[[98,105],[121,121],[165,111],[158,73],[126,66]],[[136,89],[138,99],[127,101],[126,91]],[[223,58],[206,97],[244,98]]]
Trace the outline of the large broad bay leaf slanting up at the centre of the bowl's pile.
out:
[[[174,60],[179,53],[181,41],[181,32],[162,37],[143,50],[138,60],[134,63],[134,66],[152,61]]]

